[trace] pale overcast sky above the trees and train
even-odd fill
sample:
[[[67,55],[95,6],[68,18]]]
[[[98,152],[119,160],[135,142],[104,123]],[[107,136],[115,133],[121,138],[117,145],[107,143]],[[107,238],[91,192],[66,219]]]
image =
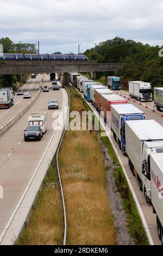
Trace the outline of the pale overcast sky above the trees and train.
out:
[[[0,38],[40,41],[40,53],[84,52],[120,36],[163,43],[162,0],[0,0]]]

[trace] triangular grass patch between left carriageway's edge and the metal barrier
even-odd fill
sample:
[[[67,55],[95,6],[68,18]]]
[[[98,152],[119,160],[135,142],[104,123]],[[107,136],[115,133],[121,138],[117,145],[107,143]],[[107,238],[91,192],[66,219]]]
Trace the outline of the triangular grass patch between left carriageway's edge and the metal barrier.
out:
[[[26,227],[15,245],[61,245],[63,215],[55,158],[37,194]]]

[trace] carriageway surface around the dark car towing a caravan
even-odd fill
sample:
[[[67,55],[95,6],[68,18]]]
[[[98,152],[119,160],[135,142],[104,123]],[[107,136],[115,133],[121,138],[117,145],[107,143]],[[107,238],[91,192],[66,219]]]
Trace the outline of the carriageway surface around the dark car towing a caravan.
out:
[[[41,78],[39,77],[38,83]],[[49,87],[49,92],[41,92],[32,107],[0,137],[0,185],[4,189],[4,198],[0,199],[0,236],[53,136],[55,127],[52,127],[52,114],[55,110],[48,110],[48,100],[57,99],[59,111],[62,110],[63,89],[53,91],[49,75],[43,78],[42,86],[45,84]],[[28,83],[28,88],[29,86],[31,82]],[[36,86],[37,83],[35,88]],[[28,115],[35,111],[48,113],[47,132],[41,141],[24,142],[23,130],[27,127]],[[55,125],[57,126],[57,122]]]

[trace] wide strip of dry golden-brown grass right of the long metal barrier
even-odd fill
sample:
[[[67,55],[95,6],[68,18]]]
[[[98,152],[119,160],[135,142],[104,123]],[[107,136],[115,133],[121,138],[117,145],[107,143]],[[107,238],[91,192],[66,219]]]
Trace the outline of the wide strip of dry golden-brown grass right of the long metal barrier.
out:
[[[73,110],[83,109],[72,99]],[[66,200],[67,245],[115,245],[101,145],[95,132],[67,131],[59,163]]]

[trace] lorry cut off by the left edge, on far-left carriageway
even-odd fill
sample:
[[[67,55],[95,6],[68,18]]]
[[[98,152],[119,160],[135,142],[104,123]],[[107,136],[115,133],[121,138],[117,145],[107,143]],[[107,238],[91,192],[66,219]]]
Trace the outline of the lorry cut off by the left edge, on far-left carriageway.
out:
[[[0,108],[10,108],[14,105],[14,92],[11,87],[0,89]]]

